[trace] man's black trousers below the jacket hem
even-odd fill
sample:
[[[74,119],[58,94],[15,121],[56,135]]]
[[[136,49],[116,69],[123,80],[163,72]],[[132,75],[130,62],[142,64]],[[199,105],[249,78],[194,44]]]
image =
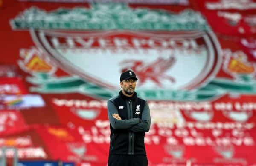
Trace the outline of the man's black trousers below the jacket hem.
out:
[[[148,166],[146,155],[109,155],[108,166]]]

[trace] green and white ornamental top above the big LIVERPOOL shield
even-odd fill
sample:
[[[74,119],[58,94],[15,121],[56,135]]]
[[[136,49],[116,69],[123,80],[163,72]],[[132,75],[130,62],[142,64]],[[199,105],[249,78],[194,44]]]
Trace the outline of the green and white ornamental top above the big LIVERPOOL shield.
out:
[[[13,29],[132,29],[132,30],[209,30],[198,12],[174,14],[164,10],[132,9],[122,3],[93,3],[90,9],[76,7],[44,11],[31,7],[11,20]]]

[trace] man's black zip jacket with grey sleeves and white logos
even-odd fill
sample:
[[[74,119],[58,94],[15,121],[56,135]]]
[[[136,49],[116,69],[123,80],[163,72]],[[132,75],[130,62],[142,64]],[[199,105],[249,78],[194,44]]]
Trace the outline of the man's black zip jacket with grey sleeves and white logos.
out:
[[[119,114],[116,120],[112,114]],[[108,119],[110,121],[109,154],[146,155],[144,137],[150,128],[150,111],[147,101],[137,97],[119,95],[108,100]]]

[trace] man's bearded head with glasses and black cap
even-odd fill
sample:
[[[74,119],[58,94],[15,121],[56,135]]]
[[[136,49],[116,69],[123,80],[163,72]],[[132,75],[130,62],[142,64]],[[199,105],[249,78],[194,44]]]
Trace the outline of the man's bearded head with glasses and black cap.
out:
[[[137,77],[131,70],[123,72],[120,76],[120,86],[124,95],[132,96],[136,87]]]

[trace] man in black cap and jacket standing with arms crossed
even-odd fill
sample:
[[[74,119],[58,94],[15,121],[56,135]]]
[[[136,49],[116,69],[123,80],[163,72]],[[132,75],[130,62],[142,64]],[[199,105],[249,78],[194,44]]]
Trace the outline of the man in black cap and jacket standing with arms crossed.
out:
[[[137,77],[131,70],[120,76],[122,90],[108,100],[110,149],[108,166],[147,166],[145,132],[150,128],[147,101],[137,97]]]

